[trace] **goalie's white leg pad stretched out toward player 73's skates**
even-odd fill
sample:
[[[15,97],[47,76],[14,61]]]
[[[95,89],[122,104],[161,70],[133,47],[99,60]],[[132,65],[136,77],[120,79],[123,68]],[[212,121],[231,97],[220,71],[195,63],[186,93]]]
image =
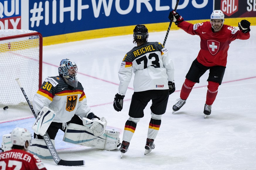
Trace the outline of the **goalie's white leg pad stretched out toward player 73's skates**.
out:
[[[118,131],[106,130],[103,135],[94,136],[87,126],[73,123],[67,125],[63,141],[105,150],[114,150],[120,144]]]

